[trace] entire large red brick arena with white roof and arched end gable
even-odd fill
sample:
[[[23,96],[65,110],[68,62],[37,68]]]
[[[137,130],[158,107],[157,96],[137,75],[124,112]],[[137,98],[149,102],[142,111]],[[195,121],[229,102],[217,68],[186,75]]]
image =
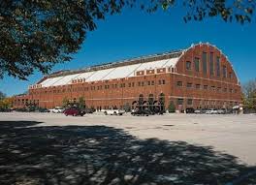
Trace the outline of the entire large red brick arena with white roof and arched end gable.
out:
[[[14,105],[62,106],[64,98],[83,97],[87,107],[122,108],[129,104],[176,109],[232,108],[241,102],[240,82],[232,64],[216,46],[198,44],[78,71],[62,71],[30,85]]]

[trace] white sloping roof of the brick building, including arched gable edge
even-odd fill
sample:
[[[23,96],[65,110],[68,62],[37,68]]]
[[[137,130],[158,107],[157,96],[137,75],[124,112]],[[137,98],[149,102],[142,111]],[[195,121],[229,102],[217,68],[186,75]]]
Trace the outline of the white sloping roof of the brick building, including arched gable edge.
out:
[[[136,72],[145,71],[157,68],[176,67],[177,62],[187,51],[193,49],[195,46],[212,46],[215,47],[227,59],[232,70],[237,76],[232,64],[229,62],[228,57],[216,46],[208,43],[191,45],[186,49],[174,50],[160,54],[142,56],[132,59],[126,59],[118,62],[112,62],[97,66],[92,66],[78,71],[61,71],[44,77],[39,81],[41,87],[58,86],[71,84],[74,79],[83,79],[84,81],[99,81],[109,80],[123,77],[135,77]],[[237,77],[238,78],[238,77]]]

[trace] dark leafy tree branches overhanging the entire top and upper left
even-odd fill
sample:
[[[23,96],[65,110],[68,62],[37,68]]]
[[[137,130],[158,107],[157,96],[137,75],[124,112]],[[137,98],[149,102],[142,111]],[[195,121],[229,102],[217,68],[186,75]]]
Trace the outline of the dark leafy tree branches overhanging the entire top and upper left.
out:
[[[225,21],[250,21],[256,1],[248,0],[1,0],[0,77],[26,79],[34,71],[48,74],[57,63],[71,60],[96,21],[124,7],[153,13],[159,8],[186,8],[184,21],[220,15]]]

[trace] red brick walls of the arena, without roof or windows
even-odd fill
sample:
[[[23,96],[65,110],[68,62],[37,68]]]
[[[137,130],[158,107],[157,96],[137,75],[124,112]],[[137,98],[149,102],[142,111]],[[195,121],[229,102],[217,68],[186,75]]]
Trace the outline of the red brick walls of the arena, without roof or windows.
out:
[[[221,58],[221,77],[216,77],[215,73],[214,76],[209,75],[209,54],[208,74],[203,74],[203,51],[213,53],[214,67],[215,57],[219,56]],[[194,70],[195,57],[200,59],[199,73]],[[191,61],[192,70],[186,70],[186,61]],[[222,77],[223,65],[227,67],[228,77]],[[233,78],[229,77],[230,72],[233,73]],[[228,107],[232,107],[233,104],[238,104],[241,101],[238,78],[225,55],[214,46],[197,45],[190,47],[181,55],[177,62],[176,73],[170,73],[170,71],[165,68],[156,69],[155,74],[149,74],[148,71],[143,71],[143,73],[143,76],[137,73],[138,77],[80,82],[56,87],[29,89],[29,95],[25,96],[25,99],[39,100],[39,106],[42,108],[61,106],[64,97],[67,97],[69,100],[74,100],[74,98],[78,100],[80,97],[84,97],[88,107],[111,108],[116,106],[120,108],[126,103],[132,105],[134,101],[138,100],[140,94],[144,95],[145,100],[147,100],[149,94],[153,94],[155,100],[157,100],[160,93],[165,94],[166,108],[170,101],[174,101],[176,105],[177,98],[184,100],[182,106],[176,105],[176,108],[180,109],[188,107],[222,108],[224,104]],[[159,80],[161,84],[159,84]],[[165,84],[162,84],[163,80]],[[148,81],[150,81],[150,85],[148,85]],[[153,85],[152,81],[154,81]],[[176,81],[182,81],[183,86],[177,87]],[[139,85],[139,82],[141,85]],[[131,83],[131,87],[129,87],[129,83]],[[192,88],[187,88],[187,83],[192,83]],[[125,86],[123,84],[125,84]],[[132,86],[132,84],[134,84],[134,86]],[[200,84],[201,88],[197,89],[196,84]],[[115,85],[117,85],[117,87],[115,87]],[[204,85],[208,85],[208,88],[214,86],[215,90],[205,90]],[[221,88],[220,92],[217,91],[218,87]],[[224,88],[227,88],[227,92],[223,92]],[[230,93],[230,89],[233,89],[233,91],[236,89],[236,92]],[[16,102],[18,99],[24,99],[24,97],[16,97]],[[193,104],[187,105],[187,99],[193,99]],[[15,106],[20,107],[17,103]]]

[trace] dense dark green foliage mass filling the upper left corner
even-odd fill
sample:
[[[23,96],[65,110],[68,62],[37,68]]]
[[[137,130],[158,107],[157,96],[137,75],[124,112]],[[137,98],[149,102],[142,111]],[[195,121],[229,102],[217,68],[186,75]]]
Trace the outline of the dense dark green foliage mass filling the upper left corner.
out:
[[[119,13],[124,2],[130,0],[2,0],[0,77],[48,74],[80,49],[96,19]]]

